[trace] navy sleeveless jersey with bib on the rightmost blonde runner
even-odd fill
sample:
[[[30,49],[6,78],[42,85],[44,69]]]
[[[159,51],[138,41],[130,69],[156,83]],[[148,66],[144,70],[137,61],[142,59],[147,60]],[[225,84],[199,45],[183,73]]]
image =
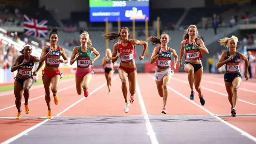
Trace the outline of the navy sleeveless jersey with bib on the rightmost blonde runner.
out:
[[[228,59],[230,57],[230,53],[229,53],[229,50],[227,51],[227,57],[226,59]],[[225,60],[226,60],[225,59]],[[240,69],[239,69],[239,66],[240,66],[240,56],[238,54],[238,51],[236,51],[236,56],[233,57],[233,59],[229,60],[227,63],[225,63],[225,68],[226,68],[226,73],[239,73],[240,72]]]

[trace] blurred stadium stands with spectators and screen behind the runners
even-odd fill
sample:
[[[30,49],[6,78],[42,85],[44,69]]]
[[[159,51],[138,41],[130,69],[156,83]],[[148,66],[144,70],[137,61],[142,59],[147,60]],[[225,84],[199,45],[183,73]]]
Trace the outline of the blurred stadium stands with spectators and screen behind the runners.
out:
[[[115,7],[97,9],[95,6],[97,7],[99,1],[108,1],[112,6],[115,3]],[[130,3],[132,3],[131,6],[126,5],[130,5]],[[142,3],[144,7],[141,5]],[[146,3],[148,3],[148,7]],[[130,17],[137,19],[142,12],[142,17],[145,19],[127,21],[130,18],[124,19],[125,17],[121,13],[119,21],[117,18],[104,18],[101,19],[102,22],[91,22],[90,20],[100,19],[96,16],[90,18],[91,10],[99,9],[122,12],[128,10]],[[139,10],[142,11],[139,12]],[[149,15],[145,16],[145,13],[149,13]],[[217,40],[224,36],[235,35],[239,39],[237,49],[250,57],[250,61],[252,60],[251,72],[253,79],[256,78],[255,0],[90,0],[90,4],[89,0],[1,0],[0,15],[0,83],[2,84],[13,84],[16,72],[10,71],[11,65],[20,54],[18,51],[24,43],[32,44],[32,54],[40,57],[43,46],[49,45],[44,42],[44,39],[49,39],[52,27],[59,28],[57,44],[65,48],[69,60],[74,46],[80,45],[79,34],[82,31],[88,31],[90,39],[92,39],[92,46],[101,54],[101,57],[94,62],[94,72],[103,73],[102,58],[105,56],[105,49],[113,50],[114,44],[103,39],[102,32],[105,30],[119,32],[120,27],[126,26],[133,34],[133,39],[139,40],[146,40],[148,36],[159,37],[165,31],[171,37],[168,46],[174,48],[179,55],[184,29],[190,24],[195,24],[200,38],[204,40],[209,49],[209,55],[203,55],[204,72],[217,74],[224,72],[224,66],[216,69],[216,63],[221,52],[227,49],[220,46]],[[27,21],[32,23],[29,25],[26,23]],[[45,22],[46,26],[40,25],[40,22]],[[35,23],[38,23],[37,26]],[[29,30],[26,27],[29,27]],[[155,45],[150,42],[145,59],[140,61],[138,57],[142,54],[143,46],[136,46],[137,72],[154,72],[154,64],[149,63],[154,47]],[[248,51],[251,51],[251,56],[247,55]],[[213,61],[212,65],[210,65],[211,60]],[[184,57],[182,61],[184,64]],[[117,65],[119,62],[120,60],[117,61]],[[76,67],[76,63],[73,65],[61,64],[60,67],[64,75],[69,77],[75,73],[72,69]],[[184,70],[178,68],[177,65],[175,72],[184,72]],[[243,75],[243,73],[244,63],[242,62],[241,74]],[[41,71],[38,74],[37,77],[40,79]]]

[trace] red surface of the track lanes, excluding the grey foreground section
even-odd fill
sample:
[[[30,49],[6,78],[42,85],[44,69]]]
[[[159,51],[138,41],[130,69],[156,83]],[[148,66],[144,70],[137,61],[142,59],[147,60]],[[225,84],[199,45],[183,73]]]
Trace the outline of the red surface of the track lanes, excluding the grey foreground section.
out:
[[[75,88],[75,79],[66,81],[59,85],[59,104],[55,105],[52,98],[52,116],[111,116],[111,115],[142,115],[142,110],[139,104],[138,94],[136,94],[135,101],[130,104],[129,113],[124,112],[125,101],[123,99],[121,82],[118,74],[114,74],[112,78],[111,93],[108,94],[107,86],[97,89],[105,83],[105,76],[103,74],[94,74],[90,82],[89,92],[92,93],[88,98],[84,99],[84,95],[77,95]],[[163,115],[161,113],[163,107],[163,100],[158,95],[155,85],[154,74],[137,74],[137,82],[139,84],[140,93],[145,104],[146,112],[148,115]],[[214,82],[214,83],[212,83]],[[227,93],[223,80],[223,75],[203,74],[203,81],[201,82],[203,96],[206,104],[203,106],[206,110],[213,114],[230,115],[230,104],[228,101]],[[127,81],[128,86],[128,81]],[[193,104],[195,102],[199,106],[200,100],[198,93],[195,92],[195,100],[189,100],[190,88],[187,82],[186,73],[177,73],[169,84],[173,92],[169,89],[169,97],[167,103],[167,115],[209,115],[203,108]],[[240,88],[256,91],[256,83],[250,81],[242,81]],[[208,89],[208,90],[207,90]],[[129,89],[128,89],[129,91]],[[137,92],[139,90],[137,89]],[[217,92],[217,93],[216,93]],[[246,102],[237,102],[237,114],[256,114],[256,100],[253,97],[256,95],[254,92],[247,92],[239,90],[239,99]],[[29,101],[30,113],[24,113],[24,104],[21,105],[23,110],[22,117],[46,117],[47,106],[44,100],[44,89],[30,90]],[[188,99],[185,99],[183,97]],[[80,101],[79,101],[80,100]],[[17,109],[15,106],[14,94],[0,96],[0,117],[15,117]],[[24,101],[24,98],[23,98]],[[22,101],[22,102],[23,102]],[[79,102],[78,102],[79,101]],[[70,107],[72,105],[72,107]],[[6,107],[10,107],[1,110]],[[223,120],[236,127],[248,132],[250,135],[256,136],[256,117],[222,117]],[[0,119],[0,132],[4,134],[1,136],[0,142],[3,142],[20,132],[40,123],[44,119]],[[10,126],[10,124],[13,124]]]

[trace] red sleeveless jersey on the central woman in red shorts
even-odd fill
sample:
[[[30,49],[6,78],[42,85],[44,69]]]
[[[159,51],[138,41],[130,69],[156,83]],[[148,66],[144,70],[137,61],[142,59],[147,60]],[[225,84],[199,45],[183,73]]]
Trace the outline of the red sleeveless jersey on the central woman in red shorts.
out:
[[[131,39],[128,39],[127,46],[123,46],[121,40],[119,40],[118,52],[123,52],[123,55],[120,57],[122,63],[133,61],[135,51],[133,45],[131,44]]]

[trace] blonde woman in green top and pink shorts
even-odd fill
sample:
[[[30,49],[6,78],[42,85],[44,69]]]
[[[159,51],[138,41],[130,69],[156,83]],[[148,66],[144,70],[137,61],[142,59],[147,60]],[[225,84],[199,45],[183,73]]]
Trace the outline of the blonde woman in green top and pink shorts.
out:
[[[79,39],[81,45],[74,47],[70,58],[70,65],[73,65],[76,61],[76,92],[78,95],[81,95],[83,89],[84,96],[87,97],[89,95],[88,85],[94,73],[91,65],[93,65],[94,60],[99,58],[100,54],[95,48],[91,47],[92,43],[87,31],[84,31]],[[93,59],[91,58],[92,52],[95,54]]]

